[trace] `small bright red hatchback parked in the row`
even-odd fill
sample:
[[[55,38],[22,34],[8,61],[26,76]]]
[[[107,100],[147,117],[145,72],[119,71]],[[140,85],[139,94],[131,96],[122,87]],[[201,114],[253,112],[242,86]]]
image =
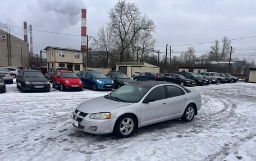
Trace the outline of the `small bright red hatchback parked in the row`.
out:
[[[57,70],[52,76],[52,87],[63,90],[83,90],[83,83],[75,72],[68,70]]]

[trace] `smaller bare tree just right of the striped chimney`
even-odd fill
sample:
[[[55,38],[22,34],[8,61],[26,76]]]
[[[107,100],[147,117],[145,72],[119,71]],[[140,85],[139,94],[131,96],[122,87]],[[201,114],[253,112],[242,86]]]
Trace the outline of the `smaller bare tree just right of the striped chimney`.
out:
[[[97,33],[97,39],[93,39],[93,47],[97,48],[99,51],[99,56],[103,59],[104,67],[106,68],[108,64],[109,54],[111,53],[111,50],[113,48],[113,39],[112,39],[112,33],[111,30],[108,28],[105,28],[104,26],[99,28],[99,31]]]

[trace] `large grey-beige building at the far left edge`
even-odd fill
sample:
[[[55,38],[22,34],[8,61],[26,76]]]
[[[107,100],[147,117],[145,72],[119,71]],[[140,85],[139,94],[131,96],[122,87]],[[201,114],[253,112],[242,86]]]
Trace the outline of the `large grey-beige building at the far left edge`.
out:
[[[0,29],[0,66],[29,66],[29,43]]]

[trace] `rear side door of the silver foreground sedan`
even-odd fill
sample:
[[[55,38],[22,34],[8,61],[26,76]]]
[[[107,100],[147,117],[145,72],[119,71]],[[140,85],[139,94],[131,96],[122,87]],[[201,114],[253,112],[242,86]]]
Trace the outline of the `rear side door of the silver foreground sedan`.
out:
[[[186,98],[185,91],[175,85],[167,85],[167,96],[170,103],[170,117],[177,118],[181,117],[185,109]]]

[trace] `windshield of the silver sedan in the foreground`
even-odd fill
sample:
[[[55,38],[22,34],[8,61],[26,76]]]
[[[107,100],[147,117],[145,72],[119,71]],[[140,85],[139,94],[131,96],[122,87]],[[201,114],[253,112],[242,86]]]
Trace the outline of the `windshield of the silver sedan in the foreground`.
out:
[[[104,96],[107,99],[112,99],[120,102],[139,102],[141,98],[147,93],[150,88],[147,86],[140,86],[129,84],[113,91],[112,93]]]

